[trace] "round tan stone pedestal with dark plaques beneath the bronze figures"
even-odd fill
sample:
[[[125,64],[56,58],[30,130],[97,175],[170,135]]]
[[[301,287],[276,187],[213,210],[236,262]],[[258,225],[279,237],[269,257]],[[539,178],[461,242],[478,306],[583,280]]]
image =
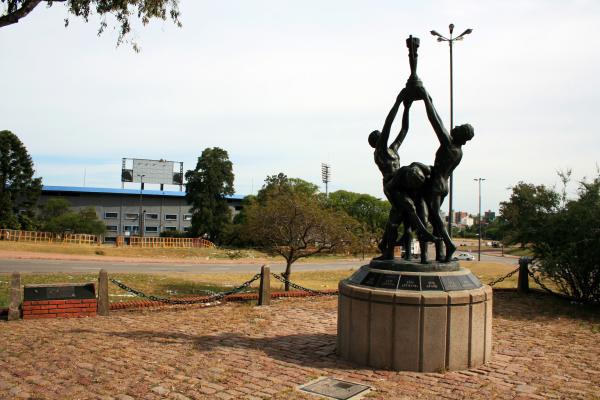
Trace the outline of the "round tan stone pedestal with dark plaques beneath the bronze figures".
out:
[[[420,372],[490,360],[492,289],[458,263],[372,261],[339,290],[337,351],[344,359]]]

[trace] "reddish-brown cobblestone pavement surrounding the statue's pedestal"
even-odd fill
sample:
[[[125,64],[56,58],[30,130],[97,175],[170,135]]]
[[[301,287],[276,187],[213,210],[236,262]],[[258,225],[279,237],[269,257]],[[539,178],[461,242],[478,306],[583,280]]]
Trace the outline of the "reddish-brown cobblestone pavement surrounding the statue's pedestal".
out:
[[[493,361],[418,374],[338,360],[336,304],[0,322],[0,398],[314,399],[295,388],[319,376],[371,385],[377,399],[600,398],[600,318],[577,306],[495,293]]]

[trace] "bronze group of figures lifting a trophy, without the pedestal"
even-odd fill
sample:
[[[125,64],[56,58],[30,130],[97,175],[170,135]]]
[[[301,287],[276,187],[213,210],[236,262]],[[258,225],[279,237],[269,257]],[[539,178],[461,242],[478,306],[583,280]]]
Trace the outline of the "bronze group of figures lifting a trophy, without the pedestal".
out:
[[[462,146],[473,138],[474,132],[471,125],[465,124],[448,133],[433,106],[431,96],[416,74],[419,39],[411,36],[406,40],[406,45],[409,49],[411,75],[388,113],[381,132],[373,131],[369,135],[369,144],[375,149],[375,163],[383,174],[384,193],[392,205],[379,243],[382,254],[378,259],[393,259],[394,247],[397,245],[403,247],[405,259],[410,259],[414,230],[419,240],[422,263],[427,262],[428,242],[435,243],[436,261],[449,262],[456,246],[445,228],[440,206],[448,195],[448,179],[462,159]],[[410,107],[418,101],[425,104],[427,118],[440,146],[435,153],[433,166],[419,162],[401,166],[398,149],[408,133]],[[388,146],[390,130],[401,104],[404,106],[402,127],[396,139]],[[427,222],[433,227],[433,232],[427,230]],[[398,240],[400,224],[404,227],[404,233]]]

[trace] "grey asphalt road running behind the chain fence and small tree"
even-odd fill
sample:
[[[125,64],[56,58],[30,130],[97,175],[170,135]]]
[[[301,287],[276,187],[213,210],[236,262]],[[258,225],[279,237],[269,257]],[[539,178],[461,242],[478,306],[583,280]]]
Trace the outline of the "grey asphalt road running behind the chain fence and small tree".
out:
[[[517,265],[515,258],[481,255],[481,261],[498,262],[502,264]],[[334,261],[331,263],[302,262],[294,264],[295,271],[328,271],[358,268],[366,264],[365,261]],[[269,264],[271,271],[283,272],[283,263]],[[463,265],[467,266],[468,262]],[[111,261],[67,261],[67,260],[28,260],[28,259],[0,259],[0,273],[20,272],[98,272],[101,268],[111,273],[165,273],[178,272],[190,274],[227,273],[227,272],[259,272],[259,264],[182,264],[182,263],[133,263]]]

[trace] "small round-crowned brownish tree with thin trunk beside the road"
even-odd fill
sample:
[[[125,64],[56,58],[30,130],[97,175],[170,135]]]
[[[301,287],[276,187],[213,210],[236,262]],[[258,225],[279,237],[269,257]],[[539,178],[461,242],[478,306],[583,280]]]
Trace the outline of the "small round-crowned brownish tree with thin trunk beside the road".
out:
[[[298,259],[350,245],[356,223],[345,213],[324,208],[307,190],[312,184],[283,174],[276,177],[266,179],[257,201],[245,210],[245,232],[255,244],[285,259],[289,280]],[[286,283],[285,290],[289,288]]]

